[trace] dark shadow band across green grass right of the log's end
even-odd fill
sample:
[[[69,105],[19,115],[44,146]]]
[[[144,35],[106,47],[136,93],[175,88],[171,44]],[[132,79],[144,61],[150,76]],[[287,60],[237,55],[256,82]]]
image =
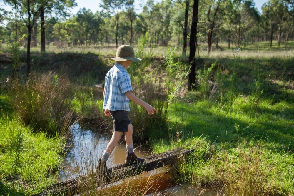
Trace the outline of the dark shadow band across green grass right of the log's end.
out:
[[[261,140],[268,143],[265,148],[282,153],[288,148],[289,150],[294,148],[294,121],[290,115],[290,109],[284,109],[283,112],[270,108],[261,110],[258,119],[254,122],[253,118],[250,125],[248,117],[233,114],[230,119],[229,113],[220,114],[206,105],[190,105],[182,102],[178,108],[178,127],[181,127],[180,131],[183,132],[184,139],[203,135],[207,136],[211,142],[227,143],[231,147],[237,147],[238,143],[244,140],[255,143]],[[183,122],[181,111],[184,113]],[[281,119],[270,119],[269,114],[278,114]],[[182,123],[183,126],[181,126]],[[239,125],[238,130],[235,124]],[[176,136],[175,124],[170,123],[170,125],[173,129],[169,134]],[[159,137],[163,138],[163,135]],[[283,145],[286,148],[283,149]]]

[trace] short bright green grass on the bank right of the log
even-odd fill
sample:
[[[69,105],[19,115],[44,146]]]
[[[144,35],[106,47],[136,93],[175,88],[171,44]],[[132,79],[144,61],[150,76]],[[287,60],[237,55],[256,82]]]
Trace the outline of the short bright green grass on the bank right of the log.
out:
[[[265,84],[262,86],[265,91],[261,96],[258,117],[254,115],[252,118],[250,93],[246,95],[243,92],[245,95],[234,100],[232,118],[228,105],[195,98],[195,93],[190,96],[188,93],[186,100],[180,101],[177,106],[176,130],[175,106],[171,105],[168,113],[171,129],[165,133],[153,133],[151,139],[157,153],[182,145],[196,148],[190,161],[181,162],[183,166],[178,172],[180,181],[196,186],[217,185],[220,167],[224,163],[237,167],[240,164],[238,145],[249,143],[243,146],[245,151],[250,151],[254,145],[261,146],[261,161],[274,180],[275,195],[280,195],[280,192],[294,194],[294,93],[283,85],[276,88],[278,92],[272,92],[274,89]],[[167,133],[170,140],[161,139]]]

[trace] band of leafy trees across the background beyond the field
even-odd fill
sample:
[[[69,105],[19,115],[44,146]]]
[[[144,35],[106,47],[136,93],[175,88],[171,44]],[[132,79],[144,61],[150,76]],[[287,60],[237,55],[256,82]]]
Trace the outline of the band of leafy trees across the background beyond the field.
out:
[[[150,45],[182,45],[186,54],[190,38],[193,1],[147,1],[138,13],[134,1],[101,1],[102,11],[85,8],[77,14],[69,9],[74,1],[4,1],[13,11],[1,9],[1,42],[11,43],[31,35],[31,46],[45,45],[109,46],[133,45],[146,32]],[[96,5],[98,6],[98,5]],[[197,42],[206,43],[207,52],[238,48],[244,44],[273,40],[286,47],[293,40],[294,3],[270,0],[262,13],[252,0],[199,1]],[[30,9],[29,9],[30,8]],[[3,23],[5,21],[5,25]],[[218,43],[226,42],[227,46]],[[43,45],[43,43],[45,45]]]

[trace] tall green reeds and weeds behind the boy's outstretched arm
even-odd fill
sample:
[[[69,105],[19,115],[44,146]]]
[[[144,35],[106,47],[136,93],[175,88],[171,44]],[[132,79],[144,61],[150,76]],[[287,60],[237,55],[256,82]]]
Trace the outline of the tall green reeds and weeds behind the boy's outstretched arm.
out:
[[[148,33],[137,40],[136,55],[142,58],[142,61],[132,63],[127,69],[131,76],[133,93],[158,110],[158,113],[150,116],[145,108],[130,102],[130,118],[134,127],[133,140],[138,143],[148,141],[148,135],[156,129],[161,129],[167,117],[168,104],[163,72],[158,67],[150,68],[154,54],[151,49],[147,49],[149,41]]]

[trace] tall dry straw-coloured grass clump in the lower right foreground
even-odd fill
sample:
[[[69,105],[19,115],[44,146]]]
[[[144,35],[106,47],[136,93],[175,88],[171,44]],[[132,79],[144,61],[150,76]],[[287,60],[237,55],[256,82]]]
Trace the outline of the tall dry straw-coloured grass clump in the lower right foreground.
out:
[[[231,164],[227,155],[221,170],[218,171],[224,185],[224,194],[227,196],[273,195],[275,176],[271,175],[269,165],[266,165],[261,158],[262,148],[256,145],[245,150],[239,144],[238,152],[238,164]]]

